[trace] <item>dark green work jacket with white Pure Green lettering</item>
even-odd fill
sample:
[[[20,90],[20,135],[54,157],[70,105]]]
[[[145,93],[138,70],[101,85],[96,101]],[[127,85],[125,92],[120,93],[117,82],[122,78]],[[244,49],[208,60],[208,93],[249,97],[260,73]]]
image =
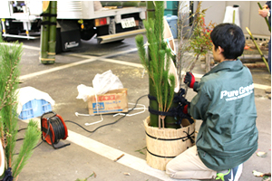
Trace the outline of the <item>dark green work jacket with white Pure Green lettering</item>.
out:
[[[220,62],[194,84],[188,112],[202,119],[197,148],[202,162],[220,171],[245,162],[257,150],[257,111],[252,75],[240,60]]]

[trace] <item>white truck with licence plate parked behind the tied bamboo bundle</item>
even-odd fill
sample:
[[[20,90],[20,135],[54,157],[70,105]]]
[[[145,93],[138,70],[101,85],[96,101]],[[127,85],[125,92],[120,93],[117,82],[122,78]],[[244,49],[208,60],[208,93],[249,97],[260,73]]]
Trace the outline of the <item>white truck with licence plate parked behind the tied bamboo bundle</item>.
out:
[[[142,5],[142,4],[141,4]],[[2,37],[39,38],[42,1],[3,1],[0,6]],[[68,51],[82,40],[98,43],[121,41],[145,33],[145,6],[102,7],[100,1],[57,1],[57,47]],[[62,44],[62,46],[58,46]]]

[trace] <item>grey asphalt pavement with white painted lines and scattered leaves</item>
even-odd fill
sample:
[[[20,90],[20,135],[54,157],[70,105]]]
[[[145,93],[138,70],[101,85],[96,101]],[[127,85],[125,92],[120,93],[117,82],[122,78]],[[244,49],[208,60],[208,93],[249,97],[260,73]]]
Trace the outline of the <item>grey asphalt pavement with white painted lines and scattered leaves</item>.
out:
[[[18,177],[20,181],[61,180],[73,181],[95,173],[88,180],[174,180],[164,171],[146,164],[146,140],[143,120],[149,116],[148,110],[134,116],[114,114],[101,116],[76,116],[75,112],[88,114],[87,103],[78,100],[77,86],[92,86],[97,73],[112,70],[123,86],[128,89],[130,108],[141,96],[149,93],[149,80],[143,71],[134,38],[121,43],[96,44],[95,40],[83,41],[81,48],[73,52],[56,55],[54,64],[44,65],[39,61],[39,40],[21,40],[24,52],[21,61],[20,87],[31,86],[48,93],[55,105],[53,111],[64,120],[71,120],[83,126],[66,122],[68,138],[61,139],[57,146],[70,143],[70,146],[54,149],[47,143],[34,149],[33,156]],[[254,154],[244,164],[240,181],[260,181],[262,177],[253,176],[252,171],[271,172],[271,100],[265,90],[271,86],[271,75],[265,69],[251,69],[255,88],[257,106],[257,129],[259,131],[258,150],[266,152],[267,157]],[[193,73],[200,76],[205,73],[198,62]],[[195,93],[188,92],[188,100]],[[144,96],[137,107],[148,107],[149,100]],[[136,113],[141,110],[133,110]],[[94,129],[108,123],[116,123]],[[40,121],[39,118],[34,120]],[[85,123],[101,122],[92,126]],[[19,126],[26,127],[28,120],[19,119]],[[201,120],[197,120],[197,129]],[[21,133],[22,132],[22,133]],[[23,137],[21,131],[18,137]],[[21,142],[17,142],[19,149]],[[121,157],[123,155],[123,157]],[[116,158],[121,157],[117,161]]]

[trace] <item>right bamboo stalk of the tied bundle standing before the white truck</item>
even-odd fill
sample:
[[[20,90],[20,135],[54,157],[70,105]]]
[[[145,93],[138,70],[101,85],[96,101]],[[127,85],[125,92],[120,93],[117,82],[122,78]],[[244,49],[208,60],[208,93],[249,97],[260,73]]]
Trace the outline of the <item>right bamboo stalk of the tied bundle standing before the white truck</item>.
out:
[[[50,2],[50,14],[57,14],[57,2]],[[47,63],[54,63],[55,61],[55,38],[56,38],[56,16],[50,17],[49,27],[49,43],[48,43],[48,61]]]

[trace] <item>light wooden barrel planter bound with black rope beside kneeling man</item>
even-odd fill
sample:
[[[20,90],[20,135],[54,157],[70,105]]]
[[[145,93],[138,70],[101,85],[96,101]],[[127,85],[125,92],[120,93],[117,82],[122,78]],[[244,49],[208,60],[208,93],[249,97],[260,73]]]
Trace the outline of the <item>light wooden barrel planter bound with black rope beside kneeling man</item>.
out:
[[[151,127],[150,117],[143,121],[146,132],[147,164],[165,170],[167,163],[195,143],[195,123],[180,129]]]

